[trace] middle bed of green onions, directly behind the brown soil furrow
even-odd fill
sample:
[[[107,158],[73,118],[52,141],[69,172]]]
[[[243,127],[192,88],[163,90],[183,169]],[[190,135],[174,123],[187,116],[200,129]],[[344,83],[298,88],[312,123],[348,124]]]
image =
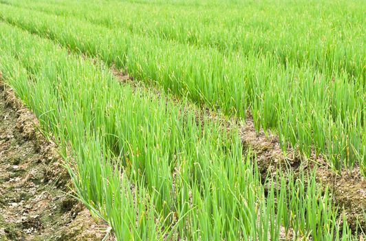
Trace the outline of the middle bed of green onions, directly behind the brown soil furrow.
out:
[[[250,109],[257,130],[275,129],[284,150],[290,144],[310,156],[314,149],[335,169],[358,162],[365,175],[366,92],[359,78],[279,65],[272,55],[224,55],[73,16],[2,5],[0,17],[195,103],[243,118]]]

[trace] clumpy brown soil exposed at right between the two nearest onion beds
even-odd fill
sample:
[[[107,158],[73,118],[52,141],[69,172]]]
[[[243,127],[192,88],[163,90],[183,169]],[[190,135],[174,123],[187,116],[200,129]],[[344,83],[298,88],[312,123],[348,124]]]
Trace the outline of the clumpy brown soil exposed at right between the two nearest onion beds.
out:
[[[235,123],[236,122],[236,123]],[[300,171],[311,172],[316,170],[316,178],[332,190],[334,204],[345,212],[347,222],[352,230],[356,230],[357,220],[363,231],[366,231],[366,178],[360,174],[360,168],[356,164],[351,173],[343,169],[339,173],[332,170],[322,156],[305,158],[299,151],[288,147],[287,155],[279,145],[278,136],[269,133],[267,136],[261,130],[255,132],[254,123],[250,114],[246,123],[231,121],[230,125],[239,125],[241,141],[244,146],[250,147],[257,155],[257,162],[261,176],[264,178],[268,174],[275,176],[276,169],[283,171],[291,169],[294,175]]]

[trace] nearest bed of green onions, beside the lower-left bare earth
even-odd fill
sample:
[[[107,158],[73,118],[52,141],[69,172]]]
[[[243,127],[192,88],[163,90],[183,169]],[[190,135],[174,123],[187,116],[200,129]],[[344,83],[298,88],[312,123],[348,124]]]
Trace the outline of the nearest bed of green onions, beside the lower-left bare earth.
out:
[[[356,239],[313,175],[262,185],[235,129],[120,84],[52,41],[6,23],[0,31],[4,80],[53,134],[78,196],[118,240]]]

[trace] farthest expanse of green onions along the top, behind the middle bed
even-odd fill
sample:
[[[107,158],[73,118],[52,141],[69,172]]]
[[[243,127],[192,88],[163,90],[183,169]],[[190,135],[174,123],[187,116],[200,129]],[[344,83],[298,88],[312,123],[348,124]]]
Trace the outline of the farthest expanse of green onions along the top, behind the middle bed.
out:
[[[364,11],[358,1],[277,1],[204,9],[119,1],[9,3],[224,54],[269,54],[284,65],[310,64],[330,75],[343,71],[365,85]]]

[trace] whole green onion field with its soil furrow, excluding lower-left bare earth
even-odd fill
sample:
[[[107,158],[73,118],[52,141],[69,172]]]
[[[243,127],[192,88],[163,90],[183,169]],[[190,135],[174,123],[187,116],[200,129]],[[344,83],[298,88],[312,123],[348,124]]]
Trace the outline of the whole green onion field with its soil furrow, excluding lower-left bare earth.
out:
[[[1,0],[0,77],[105,238],[365,240],[365,12]]]

